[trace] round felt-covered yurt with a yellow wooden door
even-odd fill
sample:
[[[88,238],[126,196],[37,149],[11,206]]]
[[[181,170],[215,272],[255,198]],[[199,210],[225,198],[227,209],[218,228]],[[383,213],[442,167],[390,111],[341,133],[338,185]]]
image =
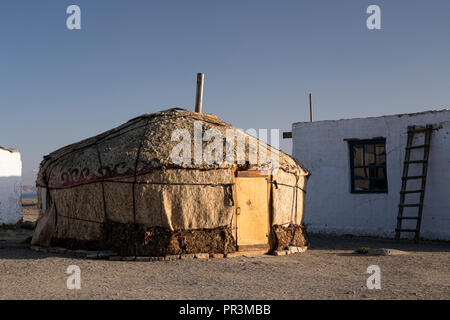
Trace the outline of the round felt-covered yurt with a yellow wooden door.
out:
[[[309,175],[217,116],[145,114],[44,157],[32,245],[122,256],[305,246]]]

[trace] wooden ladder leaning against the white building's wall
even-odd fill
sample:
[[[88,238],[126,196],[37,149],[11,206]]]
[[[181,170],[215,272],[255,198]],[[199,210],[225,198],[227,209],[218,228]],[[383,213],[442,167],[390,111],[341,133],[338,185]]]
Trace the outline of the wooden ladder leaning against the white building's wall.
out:
[[[408,127],[408,140],[406,143],[405,150],[405,162],[403,164],[403,175],[402,175],[402,189],[400,191],[400,204],[398,205],[398,216],[397,216],[397,228],[395,229],[395,239],[397,241],[400,240],[400,234],[402,232],[414,232],[414,241],[417,243],[420,239],[420,225],[422,223],[422,212],[423,212],[423,200],[425,197],[425,185],[427,181],[427,170],[428,170],[428,158],[430,155],[430,141],[431,141],[431,133],[433,131],[432,125],[427,125],[426,127],[416,127],[409,126]],[[425,134],[425,140],[423,145],[413,146],[413,140],[415,134]],[[411,160],[411,150],[414,149],[423,149],[423,160]],[[410,164],[421,164],[422,165],[422,175],[420,176],[409,176],[409,165]],[[422,180],[422,184],[419,190],[406,190],[407,182],[410,180]],[[411,193],[420,193],[419,203],[406,204],[405,203],[405,195]],[[417,207],[418,215],[414,217],[405,217],[403,216],[403,209],[405,207]],[[416,220],[416,228],[415,229],[402,229],[403,220]]]

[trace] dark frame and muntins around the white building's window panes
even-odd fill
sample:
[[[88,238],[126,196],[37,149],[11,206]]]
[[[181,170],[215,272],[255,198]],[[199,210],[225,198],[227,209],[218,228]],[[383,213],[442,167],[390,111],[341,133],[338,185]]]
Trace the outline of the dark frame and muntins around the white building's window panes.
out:
[[[366,145],[374,145],[374,163],[375,164],[366,164],[365,163],[365,159],[366,159]],[[376,158],[376,145],[383,145],[384,147],[384,163],[377,163],[377,158]],[[363,150],[363,165],[360,166],[355,166],[355,159],[354,159],[354,153],[353,153],[353,147],[354,146],[362,146],[362,150]],[[351,183],[351,188],[350,188],[350,192],[351,193],[362,193],[362,194],[367,194],[367,193],[388,193],[388,179],[387,179],[387,168],[386,168],[386,139],[385,138],[377,138],[377,139],[367,139],[367,140],[348,140],[348,147],[349,147],[349,153],[350,153],[350,183]],[[369,175],[368,175],[368,179],[361,179],[361,180],[369,180],[369,190],[355,190],[355,180],[359,180],[355,177],[355,169],[368,169],[369,171]],[[385,177],[384,178],[376,178],[375,174],[374,174],[374,170],[375,169],[384,169],[384,174]],[[381,180],[381,181],[385,181],[385,185],[386,188],[385,189],[375,189],[374,188],[374,181],[376,180]]]

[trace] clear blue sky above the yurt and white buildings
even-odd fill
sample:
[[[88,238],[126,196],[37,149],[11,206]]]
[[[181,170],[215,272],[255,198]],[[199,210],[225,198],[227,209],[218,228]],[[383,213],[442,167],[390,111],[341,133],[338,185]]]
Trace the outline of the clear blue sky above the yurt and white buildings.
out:
[[[82,29],[66,28],[81,8]],[[382,30],[366,28],[381,7]],[[42,156],[143,113],[192,109],[240,128],[442,109],[450,1],[21,1],[0,3],[0,145]],[[290,152],[290,143],[282,149]]]

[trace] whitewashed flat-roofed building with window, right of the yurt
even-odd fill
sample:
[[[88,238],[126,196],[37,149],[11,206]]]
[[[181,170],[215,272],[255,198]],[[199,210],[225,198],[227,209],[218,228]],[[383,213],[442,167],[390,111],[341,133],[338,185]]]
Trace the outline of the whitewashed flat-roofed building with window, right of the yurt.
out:
[[[434,130],[420,235],[450,240],[450,110],[294,123],[293,156],[311,171],[305,209],[308,230],[393,237],[408,126],[428,124]],[[414,145],[423,144],[418,139]],[[423,159],[423,149],[414,152],[411,160]],[[420,175],[422,166],[412,166],[409,175]],[[415,182],[419,186],[411,182],[409,190],[420,189],[421,180]],[[410,197],[417,198],[406,202],[418,202],[418,194]],[[405,216],[417,216],[417,208],[407,209]],[[403,220],[402,228],[415,229],[415,223]]]

